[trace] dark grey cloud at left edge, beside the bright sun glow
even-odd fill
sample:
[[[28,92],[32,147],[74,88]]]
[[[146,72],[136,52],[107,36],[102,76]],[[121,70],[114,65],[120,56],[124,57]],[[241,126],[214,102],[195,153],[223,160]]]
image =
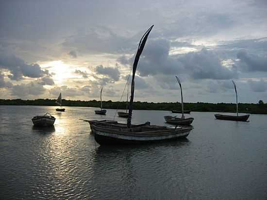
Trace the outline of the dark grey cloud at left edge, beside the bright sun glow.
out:
[[[8,69],[11,73],[8,77],[11,80],[21,80],[23,76],[39,78],[49,75],[48,70],[42,70],[38,64],[26,64],[22,59],[13,54],[6,54],[0,51],[0,68]]]

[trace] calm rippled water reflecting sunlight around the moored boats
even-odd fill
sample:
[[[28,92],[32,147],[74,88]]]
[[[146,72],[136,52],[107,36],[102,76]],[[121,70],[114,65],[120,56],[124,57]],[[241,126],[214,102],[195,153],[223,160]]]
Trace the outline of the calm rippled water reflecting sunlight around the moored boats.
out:
[[[33,128],[49,112],[54,129]],[[250,122],[192,113],[186,141],[100,147],[89,124],[113,119],[93,108],[0,106],[0,199],[227,199],[267,198],[267,116]],[[167,111],[134,111],[134,123],[164,124]],[[124,122],[123,118],[115,118]]]

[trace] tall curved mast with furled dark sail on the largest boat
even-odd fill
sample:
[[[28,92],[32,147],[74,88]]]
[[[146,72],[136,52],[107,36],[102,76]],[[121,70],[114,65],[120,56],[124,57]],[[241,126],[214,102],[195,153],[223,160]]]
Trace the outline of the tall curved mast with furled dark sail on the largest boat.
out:
[[[131,98],[130,98],[130,103],[129,103],[129,116],[127,118],[127,127],[131,128],[131,121],[132,121],[132,113],[133,113],[133,101],[134,101],[134,76],[135,76],[135,71],[137,68],[137,64],[140,58],[140,55],[142,54],[142,51],[144,50],[146,41],[148,39],[149,33],[152,30],[154,25],[152,25],[146,33],[142,36],[140,39],[138,49],[134,58],[134,65],[133,65],[133,77],[132,77],[132,85],[131,85]]]

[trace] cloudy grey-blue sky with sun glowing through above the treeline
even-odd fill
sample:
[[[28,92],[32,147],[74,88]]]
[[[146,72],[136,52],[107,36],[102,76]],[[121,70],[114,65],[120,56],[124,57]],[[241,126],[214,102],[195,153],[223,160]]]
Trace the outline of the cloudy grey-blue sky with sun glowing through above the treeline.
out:
[[[266,0],[0,0],[0,99],[267,102]],[[126,100],[126,95],[122,100]]]

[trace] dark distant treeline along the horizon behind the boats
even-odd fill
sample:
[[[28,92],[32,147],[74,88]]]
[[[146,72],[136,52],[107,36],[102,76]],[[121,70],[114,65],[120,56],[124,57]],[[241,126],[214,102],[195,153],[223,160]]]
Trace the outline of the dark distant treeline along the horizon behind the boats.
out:
[[[62,100],[63,106],[81,106],[81,107],[100,107],[100,101],[97,100]],[[0,99],[0,105],[47,105],[56,106],[55,100],[50,99],[37,99],[37,100],[2,100]],[[134,110],[181,110],[181,103],[178,102],[134,102]],[[126,102],[118,101],[103,101],[103,108],[109,109],[125,109]],[[184,110],[192,110],[197,112],[235,112],[235,103],[184,103]],[[267,103],[262,100],[259,103],[239,103],[239,113],[250,114],[267,114]]]

